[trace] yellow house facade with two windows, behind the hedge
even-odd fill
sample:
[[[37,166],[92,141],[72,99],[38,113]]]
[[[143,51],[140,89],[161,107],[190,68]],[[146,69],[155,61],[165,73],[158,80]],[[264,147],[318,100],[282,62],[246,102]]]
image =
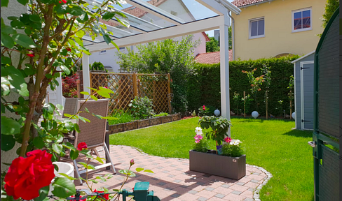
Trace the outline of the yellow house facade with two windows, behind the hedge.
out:
[[[233,59],[307,54],[322,34],[326,0],[235,0]]]

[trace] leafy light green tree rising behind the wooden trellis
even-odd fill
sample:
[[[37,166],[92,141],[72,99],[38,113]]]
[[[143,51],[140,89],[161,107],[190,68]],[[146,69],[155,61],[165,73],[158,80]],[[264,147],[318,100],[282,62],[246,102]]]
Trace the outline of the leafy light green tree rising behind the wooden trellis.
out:
[[[193,68],[193,50],[199,40],[192,42],[193,36],[182,40],[162,40],[146,45],[137,45],[138,51],[117,52],[120,67],[128,72],[170,73],[174,101],[172,106],[177,112],[186,111],[186,83],[189,70]]]

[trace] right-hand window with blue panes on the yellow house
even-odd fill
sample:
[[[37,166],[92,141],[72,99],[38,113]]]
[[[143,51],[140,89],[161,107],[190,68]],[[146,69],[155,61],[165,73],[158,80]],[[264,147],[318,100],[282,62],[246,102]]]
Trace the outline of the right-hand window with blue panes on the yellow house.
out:
[[[292,11],[292,32],[311,29],[311,8]]]

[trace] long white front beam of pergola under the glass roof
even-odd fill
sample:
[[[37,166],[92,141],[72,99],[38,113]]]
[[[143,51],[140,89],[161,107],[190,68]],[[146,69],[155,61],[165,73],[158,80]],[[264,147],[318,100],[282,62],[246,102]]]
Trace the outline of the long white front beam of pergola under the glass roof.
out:
[[[224,16],[211,17],[205,20],[198,20],[196,22],[189,22],[175,27],[168,27],[149,33],[139,34],[137,36],[129,36],[114,40],[118,47],[128,47],[130,45],[138,45],[142,43],[149,43],[158,40],[165,40],[167,38],[175,38],[178,36],[186,36],[189,34],[196,34],[203,31],[210,31],[212,29],[219,29],[220,25],[224,24]],[[107,43],[98,43],[94,45],[85,45],[90,52],[99,52],[101,50],[114,49],[114,45]]]

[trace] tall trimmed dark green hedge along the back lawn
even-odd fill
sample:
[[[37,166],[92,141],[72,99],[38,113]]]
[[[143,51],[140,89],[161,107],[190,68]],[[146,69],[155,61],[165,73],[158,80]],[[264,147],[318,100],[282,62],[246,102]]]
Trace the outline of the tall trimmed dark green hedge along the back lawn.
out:
[[[229,87],[231,110],[236,113],[237,105],[233,101],[233,95],[236,91],[243,96],[243,91],[251,94],[251,98],[257,100],[257,111],[260,115],[266,115],[265,104],[265,86],[261,86],[261,91],[258,91],[254,97],[250,91],[251,87],[247,74],[242,73],[242,70],[250,71],[257,68],[254,77],[261,75],[261,67],[263,64],[271,66],[271,87],[268,93],[268,114],[274,116],[282,116],[283,110],[289,114],[289,77],[294,73],[294,65],[291,61],[298,59],[299,56],[280,57],[271,59],[258,59],[249,61],[230,61],[229,62]],[[196,64],[189,77],[188,84],[188,110],[196,110],[198,107],[205,105],[210,107],[213,112],[216,108],[221,110],[221,94],[220,94],[220,74],[219,64]],[[278,101],[283,101],[282,105]],[[294,101],[292,101],[294,102]],[[294,104],[294,103],[292,103]],[[238,109],[242,109],[243,104],[240,101]],[[247,114],[256,110],[256,103],[252,101],[248,108]],[[294,107],[292,106],[292,111]],[[240,113],[240,112],[239,112]]]

